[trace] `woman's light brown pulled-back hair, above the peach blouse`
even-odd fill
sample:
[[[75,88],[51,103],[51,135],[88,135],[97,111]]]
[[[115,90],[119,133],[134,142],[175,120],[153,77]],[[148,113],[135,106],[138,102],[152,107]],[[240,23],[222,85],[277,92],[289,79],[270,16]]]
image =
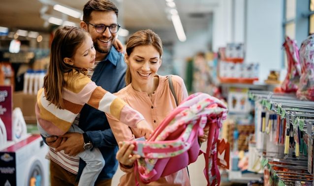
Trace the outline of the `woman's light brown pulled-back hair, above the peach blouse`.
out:
[[[152,30],[141,30],[133,33],[126,42],[126,54],[130,56],[134,48],[143,45],[153,45],[159,52],[159,57],[162,56],[162,42],[160,37]],[[126,69],[126,85],[132,82],[129,66]]]

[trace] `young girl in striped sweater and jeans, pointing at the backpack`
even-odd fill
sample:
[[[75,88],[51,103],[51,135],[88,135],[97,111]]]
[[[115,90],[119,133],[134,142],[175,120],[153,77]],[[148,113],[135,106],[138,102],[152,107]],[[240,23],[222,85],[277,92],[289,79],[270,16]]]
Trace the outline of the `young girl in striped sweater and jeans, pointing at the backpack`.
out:
[[[94,66],[95,49],[88,32],[76,27],[57,29],[51,45],[51,58],[44,87],[37,93],[35,107],[37,126],[44,137],[66,132],[83,132],[72,125],[84,104],[105,112],[130,127],[137,128],[147,138],[152,129],[144,117],[122,99],[97,87],[86,75]],[[100,151],[84,151],[79,156],[86,161],[79,186],[92,186],[104,166]]]

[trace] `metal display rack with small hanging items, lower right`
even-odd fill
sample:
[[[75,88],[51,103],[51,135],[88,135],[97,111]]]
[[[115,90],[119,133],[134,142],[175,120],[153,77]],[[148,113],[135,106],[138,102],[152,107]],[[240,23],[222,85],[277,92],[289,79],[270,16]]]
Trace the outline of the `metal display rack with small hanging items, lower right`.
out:
[[[250,91],[255,103],[255,153],[264,186],[312,186],[314,102],[295,94]]]

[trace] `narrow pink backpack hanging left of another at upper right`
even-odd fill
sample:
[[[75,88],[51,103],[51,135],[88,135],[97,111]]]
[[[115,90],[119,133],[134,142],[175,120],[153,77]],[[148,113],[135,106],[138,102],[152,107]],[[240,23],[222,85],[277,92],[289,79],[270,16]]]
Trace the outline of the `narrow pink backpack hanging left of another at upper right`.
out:
[[[298,90],[298,83],[301,75],[299,48],[296,41],[290,39],[288,36],[285,37],[283,47],[288,61],[288,70],[281,88],[285,93],[296,92]]]

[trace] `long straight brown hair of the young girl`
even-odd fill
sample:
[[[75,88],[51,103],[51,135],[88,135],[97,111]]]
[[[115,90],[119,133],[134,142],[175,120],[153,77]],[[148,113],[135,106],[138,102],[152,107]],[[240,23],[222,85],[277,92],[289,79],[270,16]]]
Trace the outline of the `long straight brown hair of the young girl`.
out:
[[[55,32],[51,44],[50,63],[44,78],[44,89],[46,99],[58,108],[63,108],[62,89],[65,85],[63,74],[72,73],[73,69],[85,73],[84,69],[67,64],[63,59],[74,57],[87,35],[88,32],[83,29],[69,26],[59,27]]]

